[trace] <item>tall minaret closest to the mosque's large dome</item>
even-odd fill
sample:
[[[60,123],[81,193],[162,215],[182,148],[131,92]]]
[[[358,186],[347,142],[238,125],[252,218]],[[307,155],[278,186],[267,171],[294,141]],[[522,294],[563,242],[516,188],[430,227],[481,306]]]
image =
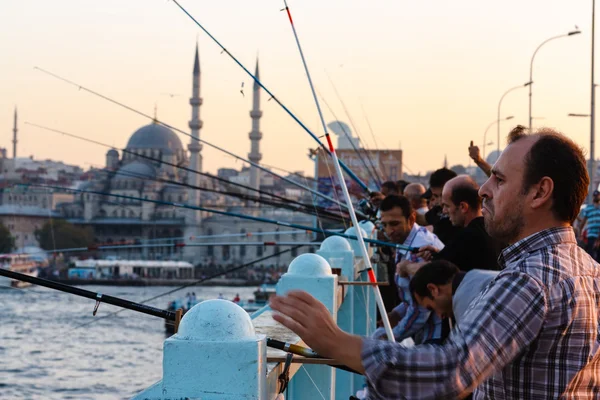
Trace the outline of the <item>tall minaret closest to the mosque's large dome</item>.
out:
[[[190,151],[190,168],[194,171],[202,172],[202,145],[197,139],[200,139],[200,129],[202,129],[202,120],[200,119],[200,106],[202,105],[202,97],[200,97],[200,57],[198,56],[198,43],[196,43],[196,57],[194,59],[194,86],[192,89],[192,97],[190,105],[192,106],[192,119],[190,121],[190,129],[192,139],[188,145]],[[188,182],[193,186],[200,186],[200,175],[188,174]],[[197,189],[189,191],[190,204],[198,206],[200,203],[200,192]],[[199,213],[194,212],[194,220],[191,223],[199,222]]]

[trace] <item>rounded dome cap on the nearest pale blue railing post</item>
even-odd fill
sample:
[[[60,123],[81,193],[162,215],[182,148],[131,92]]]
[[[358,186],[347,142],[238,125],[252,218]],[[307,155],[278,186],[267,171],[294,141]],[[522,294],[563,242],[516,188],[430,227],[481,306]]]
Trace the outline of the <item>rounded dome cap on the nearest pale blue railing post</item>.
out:
[[[227,342],[254,340],[250,315],[229,300],[206,300],[185,313],[176,337],[181,340]]]

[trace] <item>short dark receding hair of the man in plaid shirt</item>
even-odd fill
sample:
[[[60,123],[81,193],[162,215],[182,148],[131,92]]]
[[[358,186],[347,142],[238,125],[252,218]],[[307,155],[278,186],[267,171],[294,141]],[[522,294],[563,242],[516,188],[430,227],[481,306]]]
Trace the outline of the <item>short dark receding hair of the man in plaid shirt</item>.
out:
[[[526,130],[519,125],[509,133],[508,143],[526,136]],[[553,129],[543,128],[531,136],[537,140],[525,158],[523,192],[545,176],[552,179],[554,215],[561,221],[573,223],[590,184],[583,151],[571,139]]]

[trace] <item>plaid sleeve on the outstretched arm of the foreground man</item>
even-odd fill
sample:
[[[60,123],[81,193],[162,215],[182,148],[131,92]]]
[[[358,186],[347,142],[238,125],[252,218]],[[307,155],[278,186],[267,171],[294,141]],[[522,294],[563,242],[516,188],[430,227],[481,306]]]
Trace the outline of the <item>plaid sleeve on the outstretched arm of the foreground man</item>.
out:
[[[545,292],[522,272],[501,275],[473,302],[460,329],[442,346],[407,348],[364,339],[362,363],[376,398],[456,398],[527,347],[544,322]]]

